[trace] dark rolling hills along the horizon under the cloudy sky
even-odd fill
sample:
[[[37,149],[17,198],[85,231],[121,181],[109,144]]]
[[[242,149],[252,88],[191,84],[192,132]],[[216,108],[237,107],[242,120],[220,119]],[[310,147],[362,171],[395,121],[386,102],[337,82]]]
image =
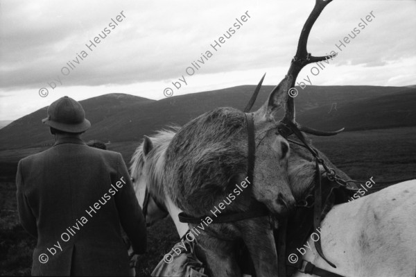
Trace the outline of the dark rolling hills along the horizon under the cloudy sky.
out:
[[[85,140],[139,141],[167,124],[182,125],[214,108],[231,106],[242,110],[254,85],[173,96],[154,101],[128,94],[105,94],[84,101],[92,128]],[[252,110],[268,98],[272,86],[264,86]],[[336,107],[334,106],[336,103]],[[309,86],[299,88],[295,98],[297,121],[320,128],[346,131],[416,125],[416,87]],[[331,108],[332,107],[332,108]],[[53,144],[41,119],[46,107],[21,117],[0,129],[0,150],[25,149]]]

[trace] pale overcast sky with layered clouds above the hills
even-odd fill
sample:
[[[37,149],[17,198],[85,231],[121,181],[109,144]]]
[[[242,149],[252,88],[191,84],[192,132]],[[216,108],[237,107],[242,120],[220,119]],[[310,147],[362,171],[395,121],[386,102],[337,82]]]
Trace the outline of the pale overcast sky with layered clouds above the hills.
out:
[[[163,99],[166,87],[179,95],[254,85],[264,72],[264,83],[275,85],[288,70],[314,3],[0,0],[0,120],[64,95],[78,101],[113,92]],[[415,12],[415,0],[333,0],[312,28],[308,50],[338,56],[319,73],[316,65],[305,67],[297,81],[415,85]],[[245,14],[250,17],[243,22]],[[367,15],[372,21],[358,26]],[[336,44],[354,28],[360,33],[340,51]],[[223,33],[229,38],[220,44]],[[105,38],[94,42],[99,34]],[[216,49],[210,45],[215,40]],[[178,81],[182,76],[186,84]]]

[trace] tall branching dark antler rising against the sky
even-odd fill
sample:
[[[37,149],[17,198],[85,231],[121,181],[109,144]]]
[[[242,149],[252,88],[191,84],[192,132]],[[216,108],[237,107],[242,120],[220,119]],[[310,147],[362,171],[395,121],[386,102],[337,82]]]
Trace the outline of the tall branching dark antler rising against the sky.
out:
[[[309,15],[308,19],[306,19],[306,22],[304,24],[304,27],[302,28],[302,32],[300,33],[300,38],[299,38],[299,42],[297,44],[297,51],[296,51],[296,55],[295,57],[292,59],[291,62],[291,67],[289,67],[288,70],[288,76],[292,76],[292,82],[291,82],[291,86],[290,87],[295,87],[295,82],[296,82],[296,78],[297,75],[299,74],[299,72],[302,70],[303,67],[305,67],[306,65],[309,65],[312,62],[320,62],[322,60],[327,60],[329,58],[333,58],[336,55],[329,55],[329,56],[320,56],[320,57],[315,57],[315,56],[311,56],[310,53],[308,53],[307,49],[306,49],[306,45],[308,44],[308,37],[309,37],[309,33],[311,33],[311,28],[313,26],[313,24],[315,23],[316,19],[318,19],[320,13],[322,12],[322,10],[324,10],[324,8],[331,3],[332,0],[315,0],[315,6],[313,7],[313,10],[311,12],[311,14]],[[278,87],[275,87],[275,89],[272,91],[275,92],[275,90],[277,90]],[[288,94],[286,92],[286,94]],[[297,128],[300,129],[300,131],[304,131],[305,133],[309,133],[311,135],[336,135],[340,132],[342,132],[344,130],[344,128],[338,130],[338,131],[333,131],[333,132],[327,132],[327,131],[318,131],[315,130],[313,128],[308,128],[308,127],[303,127],[300,126],[300,124],[298,124],[295,121],[295,103],[294,103],[294,99],[293,97],[290,97],[287,95],[286,98],[286,104],[285,104],[285,115],[284,115],[284,119],[282,119],[282,122],[288,122],[290,121],[293,124],[296,124]]]

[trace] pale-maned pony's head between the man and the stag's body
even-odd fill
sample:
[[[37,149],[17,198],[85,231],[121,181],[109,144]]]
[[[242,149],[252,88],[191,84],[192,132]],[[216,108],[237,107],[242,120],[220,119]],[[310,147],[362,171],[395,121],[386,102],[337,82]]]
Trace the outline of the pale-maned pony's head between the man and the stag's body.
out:
[[[139,205],[146,217],[146,224],[151,226],[155,221],[163,219],[168,215],[166,209],[165,197],[163,188],[159,185],[160,182],[148,182],[148,176],[158,176],[158,173],[146,171],[146,169],[160,170],[161,167],[145,167],[146,156],[150,151],[164,151],[166,145],[171,141],[177,127],[172,127],[171,130],[162,130],[152,137],[144,137],[144,141],[137,146],[135,153],[132,156],[130,174],[132,177],[133,187]],[[166,144],[166,145],[165,145]],[[156,154],[157,156],[159,154]]]

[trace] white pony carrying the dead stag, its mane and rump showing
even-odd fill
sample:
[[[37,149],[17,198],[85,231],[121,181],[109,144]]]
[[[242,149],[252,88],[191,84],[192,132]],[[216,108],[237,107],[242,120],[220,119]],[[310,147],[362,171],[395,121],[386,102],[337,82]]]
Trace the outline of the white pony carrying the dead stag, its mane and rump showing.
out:
[[[162,157],[175,131],[177,128],[159,131],[151,138],[145,137],[132,157],[130,172],[135,179],[139,204],[143,207],[147,185],[153,197],[163,200],[178,235],[182,237],[189,229],[177,217],[182,210],[164,192],[151,190],[152,184],[146,184],[147,173],[144,170],[146,154],[157,149],[159,157]],[[157,209],[154,213],[157,214]],[[416,180],[391,185],[360,199],[335,205],[322,221],[319,231],[324,255],[336,268],[316,251],[313,241],[316,237],[309,237],[306,244],[299,246],[306,253],[303,256],[294,253],[298,258],[342,276],[416,276]],[[298,271],[294,276],[311,275]]]

